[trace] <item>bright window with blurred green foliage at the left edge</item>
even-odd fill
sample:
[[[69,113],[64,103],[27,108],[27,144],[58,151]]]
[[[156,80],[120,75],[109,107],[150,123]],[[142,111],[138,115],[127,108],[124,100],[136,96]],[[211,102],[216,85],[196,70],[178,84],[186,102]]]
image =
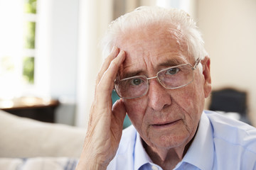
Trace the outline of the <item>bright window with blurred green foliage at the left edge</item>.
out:
[[[21,96],[34,83],[36,0],[0,2],[0,99]]]

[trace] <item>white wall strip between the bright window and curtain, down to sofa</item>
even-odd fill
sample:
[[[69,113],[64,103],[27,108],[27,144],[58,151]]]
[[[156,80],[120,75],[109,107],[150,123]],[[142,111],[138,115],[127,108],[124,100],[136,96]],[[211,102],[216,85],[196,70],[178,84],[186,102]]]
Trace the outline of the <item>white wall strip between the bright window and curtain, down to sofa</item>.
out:
[[[56,122],[74,124],[79,0],[38,1],[36,96],[60,100]]]

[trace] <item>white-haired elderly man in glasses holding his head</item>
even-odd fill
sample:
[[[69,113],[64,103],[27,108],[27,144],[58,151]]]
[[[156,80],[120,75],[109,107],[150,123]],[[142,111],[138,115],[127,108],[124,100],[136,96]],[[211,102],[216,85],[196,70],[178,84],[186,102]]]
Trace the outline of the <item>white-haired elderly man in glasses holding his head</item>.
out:
[[[110,24],[104,42],[77,169],[256,169],[255,128],[203,111],[210,59],[190,16],[137,8]],[[132,126],[122,132],[126,114]]]

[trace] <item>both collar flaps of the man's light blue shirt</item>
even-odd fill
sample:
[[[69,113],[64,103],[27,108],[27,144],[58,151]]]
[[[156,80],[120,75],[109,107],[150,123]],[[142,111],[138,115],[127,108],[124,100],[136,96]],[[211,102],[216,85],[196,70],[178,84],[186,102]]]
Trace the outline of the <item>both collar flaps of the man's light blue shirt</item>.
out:
[[[212,169],[213,167],[213,132],[211,130],[210,121],[206,113],[202,113],[201,120],[188,152],[182,161],[177,164],[176,168],[181,166],[183,162],[197,166],[199,169]],[[134,148],[134,169],[139,169],[147,163],[152,163],[149,155],[146,153],[142,145],[142,139],[137,132],[136,143]]]

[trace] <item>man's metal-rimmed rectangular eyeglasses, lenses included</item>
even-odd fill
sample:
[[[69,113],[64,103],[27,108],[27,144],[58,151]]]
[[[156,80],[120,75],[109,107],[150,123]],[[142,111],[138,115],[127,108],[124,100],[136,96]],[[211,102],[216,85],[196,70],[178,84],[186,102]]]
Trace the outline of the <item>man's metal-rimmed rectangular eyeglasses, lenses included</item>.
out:
[[[190,84],[193,79],[193,71],[201,60],[198,58],[196,64],[180,64],[174,67],[162,69],[156,77],[136,76],[114,81],[114,89],[120,98],[139,98],[149,90],[149,80],[157,79],[165,89],[178,89]]]

